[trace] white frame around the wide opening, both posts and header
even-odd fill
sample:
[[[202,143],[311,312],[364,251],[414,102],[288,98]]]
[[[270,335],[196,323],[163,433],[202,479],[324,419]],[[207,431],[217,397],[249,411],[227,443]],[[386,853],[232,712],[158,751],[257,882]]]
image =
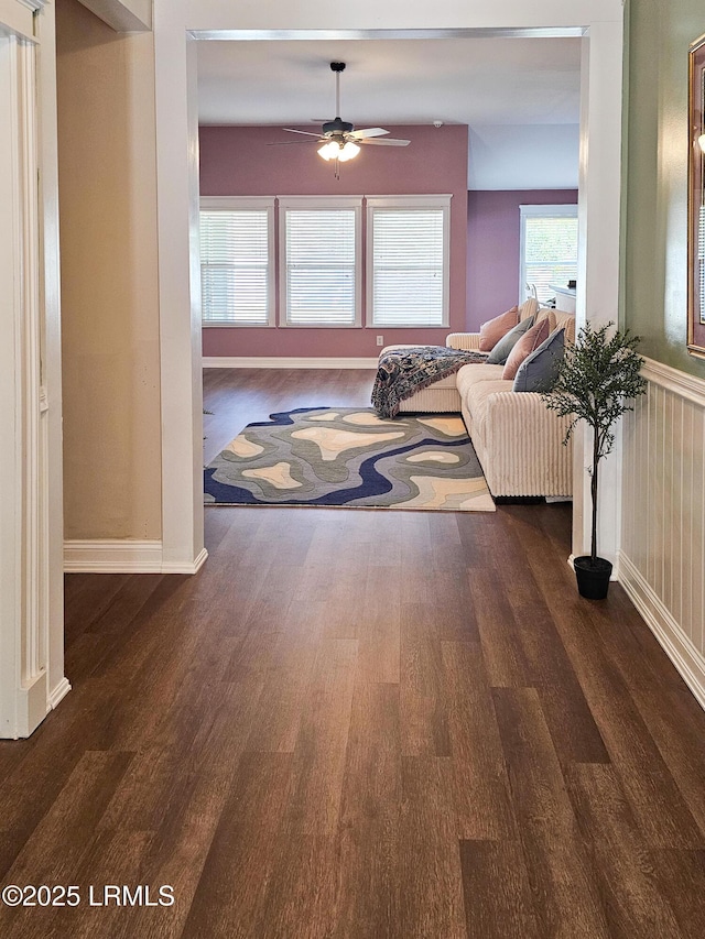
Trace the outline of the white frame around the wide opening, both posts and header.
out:
[[[200,297],[197,255],[196,52],[200,39],[392,39],[453,35],[582,35],[578,325],[616,319],[619,303],[621,0],[438,0],[404,6],[358,0],[340,12],[323,0],[241,4],[154,0],[162,364],[163,553],[173,570],[203,561]],[[327,30],[316,29],[325,22]],[[517,25],[521,30],[517,30]],[[589,142],[589,146],[588,146]],[[575,446],[573,553],[589,544],[584,440]],[[184,455],[191,460],[184,460]],[[619,546],[620,459],[603,471],[600,554]]]

